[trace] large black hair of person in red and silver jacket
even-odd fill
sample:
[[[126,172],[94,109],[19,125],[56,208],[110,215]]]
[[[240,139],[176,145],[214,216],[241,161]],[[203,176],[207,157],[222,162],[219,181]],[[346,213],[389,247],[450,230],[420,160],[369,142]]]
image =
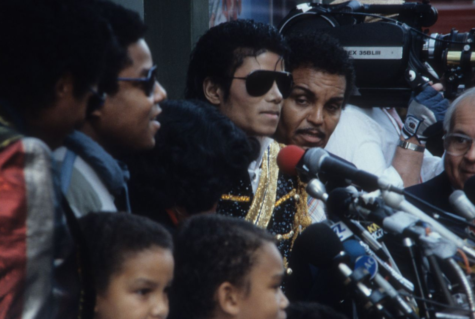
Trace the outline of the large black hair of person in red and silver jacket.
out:
[[[0,98],[20,114],[51,105],[68,74],[84,96],[113,45],[107,22],[78,0],[1,1],[0,41]]]

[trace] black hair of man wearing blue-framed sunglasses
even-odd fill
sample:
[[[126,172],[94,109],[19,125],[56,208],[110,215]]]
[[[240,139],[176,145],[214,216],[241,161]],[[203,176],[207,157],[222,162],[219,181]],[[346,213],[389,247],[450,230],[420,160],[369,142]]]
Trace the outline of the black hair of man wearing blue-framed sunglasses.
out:
[[[147,27],[137,12],[120,4],[107,0],[95,0],[92,3],[100,16],[109,23],[118,43],[115,52],[108,56],[104,76],[99,81],[99,91],[115,94],[119,88],[119,72],[132,63],[127,49],[145,36]]]

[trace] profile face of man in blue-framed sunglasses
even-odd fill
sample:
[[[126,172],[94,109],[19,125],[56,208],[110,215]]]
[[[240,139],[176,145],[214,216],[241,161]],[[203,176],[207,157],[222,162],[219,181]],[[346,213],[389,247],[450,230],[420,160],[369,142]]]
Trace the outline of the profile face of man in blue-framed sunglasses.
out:
[[[155,145],[155,134],[160,128],[156,117],[158,105],[167,97],[166,91],[151,72],[153,61],[146,42],[140,39],[128,46],[132,64],[119,73],[119,91],[108,95],[102,108],[96,110],[95,130],[102,146],[113,155],[150,149]],[[137,81],[146,79],[150,82]],[[150,86],[150,84],[153,84]]]

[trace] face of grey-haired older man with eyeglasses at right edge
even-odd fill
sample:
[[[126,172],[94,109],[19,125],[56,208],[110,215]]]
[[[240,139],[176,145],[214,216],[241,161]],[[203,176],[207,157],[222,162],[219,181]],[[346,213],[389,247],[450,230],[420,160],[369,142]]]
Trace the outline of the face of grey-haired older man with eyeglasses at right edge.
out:
[[[467,98],[455,110],[452,132],[464,134],[475,139],[475,99]],[[463,189],[465,182],[475,175],[475,146],[465,155],[445,154],[445,171],[453,187]]]

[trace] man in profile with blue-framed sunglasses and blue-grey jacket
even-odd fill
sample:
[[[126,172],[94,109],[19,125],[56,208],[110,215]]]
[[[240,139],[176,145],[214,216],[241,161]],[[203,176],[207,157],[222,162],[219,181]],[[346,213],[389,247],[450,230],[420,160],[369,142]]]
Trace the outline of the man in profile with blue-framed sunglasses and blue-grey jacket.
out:
[[[156,80],[157,67],[143,36],[146,30],[139,14],[110,1],[96,1],[95,9],[105,18],[120,46],[119,65],[108,61],[101,81],[105,99],[90,103],[88,118],[54,152],[61,164],[61,188],[77,216],[91,211],[129,211],[129,172],[119,161],[133,152],[150,149],[160,124],[158,103],[166,98]],[[124,27],[127,26],[127,27]]]

